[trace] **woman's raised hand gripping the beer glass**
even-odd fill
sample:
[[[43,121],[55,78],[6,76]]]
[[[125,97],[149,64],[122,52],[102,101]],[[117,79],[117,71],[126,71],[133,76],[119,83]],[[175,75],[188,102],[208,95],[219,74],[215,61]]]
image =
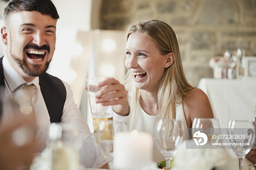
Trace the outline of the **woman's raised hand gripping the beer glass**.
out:
[[[100,82],[98,88],[101,89],[96,92],[96,103],[101,103],[104,106],[113,105],[114,112],[118,115],[127,116],[129,114],[127,91],[123,84],[114,78],[108,78]],[[86,86],[85,89],[87,90]]]

